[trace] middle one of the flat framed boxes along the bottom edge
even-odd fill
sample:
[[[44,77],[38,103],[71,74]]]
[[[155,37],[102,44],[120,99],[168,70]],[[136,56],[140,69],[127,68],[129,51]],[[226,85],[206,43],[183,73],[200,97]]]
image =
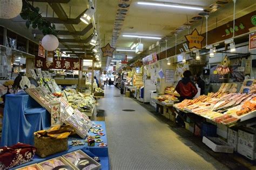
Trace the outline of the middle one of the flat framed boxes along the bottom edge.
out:
[[[46,160],[44,162],[39,163],[39,166],[42,167],[44,170],[51,170],[51,169],[76,169],[73,165],[69,164],[68,161],[66,161],[62,157],[53,158],[50,160]]]

